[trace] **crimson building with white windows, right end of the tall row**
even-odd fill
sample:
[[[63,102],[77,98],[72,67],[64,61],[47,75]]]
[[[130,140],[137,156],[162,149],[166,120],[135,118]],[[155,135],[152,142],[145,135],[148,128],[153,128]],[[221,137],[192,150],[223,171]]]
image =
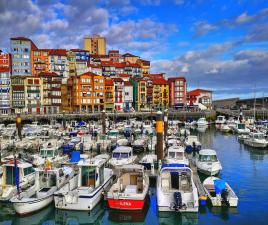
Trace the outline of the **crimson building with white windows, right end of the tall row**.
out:
[[[168,78],[169,107],[182,108],[187,101],[187,84],[184,77]]]

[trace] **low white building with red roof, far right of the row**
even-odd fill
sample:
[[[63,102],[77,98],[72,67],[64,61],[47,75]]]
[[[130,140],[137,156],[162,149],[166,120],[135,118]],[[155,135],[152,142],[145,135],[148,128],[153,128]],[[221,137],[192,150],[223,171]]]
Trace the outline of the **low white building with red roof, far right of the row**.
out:
[[[187,93],[187,104],[189,106],[196,105],[200,109],[204,106],[208,109],[212,107],[212,91],[204,89],[195,89]]]

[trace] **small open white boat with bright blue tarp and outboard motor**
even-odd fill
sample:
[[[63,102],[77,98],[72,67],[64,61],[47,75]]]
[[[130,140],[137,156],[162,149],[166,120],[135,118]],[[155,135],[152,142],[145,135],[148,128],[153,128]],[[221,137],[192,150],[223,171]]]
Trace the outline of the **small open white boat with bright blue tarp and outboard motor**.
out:
[[[237,207],[238,197],[224,180],[217,177],[208,177],[204,180],[203,186],[212,206]]]

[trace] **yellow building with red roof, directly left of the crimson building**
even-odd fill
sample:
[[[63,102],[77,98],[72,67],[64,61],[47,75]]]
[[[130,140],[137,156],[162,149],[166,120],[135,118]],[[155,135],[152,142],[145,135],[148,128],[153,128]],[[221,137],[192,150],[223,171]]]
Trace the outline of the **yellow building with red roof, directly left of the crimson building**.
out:
[[[165,109],[169,104],[168,81],[163,78],[154,78],[153,81],[153,107]]]

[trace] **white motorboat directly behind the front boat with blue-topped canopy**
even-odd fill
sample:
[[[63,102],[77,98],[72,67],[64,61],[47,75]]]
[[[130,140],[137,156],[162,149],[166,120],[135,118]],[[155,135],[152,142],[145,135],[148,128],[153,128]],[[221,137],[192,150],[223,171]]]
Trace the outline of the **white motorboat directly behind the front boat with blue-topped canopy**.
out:
[[[189,160],[185,155],[184,147],[171,146],[167,150],[167,156],[165,158],[167,164],[177,163],[189,166]]]

